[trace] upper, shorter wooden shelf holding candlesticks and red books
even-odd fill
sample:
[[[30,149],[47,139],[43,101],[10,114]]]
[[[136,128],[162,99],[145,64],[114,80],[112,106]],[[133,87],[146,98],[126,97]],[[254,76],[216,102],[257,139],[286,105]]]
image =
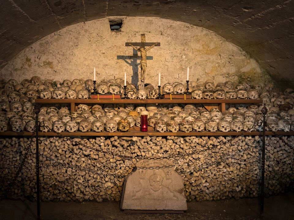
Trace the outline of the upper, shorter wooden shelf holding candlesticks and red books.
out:
[[[36,103],[80,103],[80,104],[105,104],[105,103],[262,103],[262,99],[36,99]]]

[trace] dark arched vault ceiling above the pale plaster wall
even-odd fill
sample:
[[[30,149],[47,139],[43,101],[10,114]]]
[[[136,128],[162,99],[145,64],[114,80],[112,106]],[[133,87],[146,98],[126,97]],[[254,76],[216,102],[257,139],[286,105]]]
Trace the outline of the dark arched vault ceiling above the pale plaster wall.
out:
[[[153,16],[216,32],[251,54],[279,84],[294,85],[294,0],[8,0],[0,13],[0,68],[66,26],[107,16]],[[140,24],[138,24],[140,25]]]

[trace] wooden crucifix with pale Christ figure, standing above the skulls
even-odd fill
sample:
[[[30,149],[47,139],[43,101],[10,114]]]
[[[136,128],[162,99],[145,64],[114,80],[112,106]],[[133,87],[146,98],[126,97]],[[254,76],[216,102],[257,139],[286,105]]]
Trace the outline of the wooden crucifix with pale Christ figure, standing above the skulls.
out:
[[[160,46],[160,43],[152,43],[152,42],[146,42],[145,34],[141,34],[141,42],[139,43],[131,43],[131,42],[126,42],[126,46],[131,46],[134,48],[134,50],[137,50],[141,53],[141,61],[140,61],[140,66],[141,66],[141,89],[144,89],[144,82],[145,82],[145,73],[146,73],[146,68],[147,68],[147,51],[151,50],[154,46]],[[139,48],[136,48],[139,47]],[[147,49],[145,46],[149,46]]]

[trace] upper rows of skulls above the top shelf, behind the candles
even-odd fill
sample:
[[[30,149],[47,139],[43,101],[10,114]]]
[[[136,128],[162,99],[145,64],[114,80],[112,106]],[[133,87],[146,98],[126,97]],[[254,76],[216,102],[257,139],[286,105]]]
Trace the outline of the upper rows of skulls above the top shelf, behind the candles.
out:
[[[33,76],[31,79],[24,79],[18,83],[15,79],[8,82],[0,82],[0,101],[18,101],[26,98],[28,101],[34,102],[36,98],[55,98],[55,99],[87,99],[93,92],[94,84],[91,79],[74,79],[72,81],[65,79],[62,82],[58,80],[47,79],[44,82],[40,77]],[[101,79],[96,85],[99,94],[121,94],[123,91],[124,80],[117,79]],[[294,103],[293,89],[288,88],[281,93],[272,83],[262,86],[258,83],[250,84],[243,82],[234,85],[231,81],[220,82],[215,85],[213,80],[205,82],[189,82],[189,91],[194,99],[278,99],[284,100],[284,103]],[[181,82],[165,83],[162,86],[163,94],[183,94],[186,86]],[[149,84],[144,89],[137,89],[133,83],[127,82],[126,96],[130,99],[154,99],[158,96],[158,89]],[[280,97],[283,96],[283,97]],[[277,101],[277,102],[278,102]]]

